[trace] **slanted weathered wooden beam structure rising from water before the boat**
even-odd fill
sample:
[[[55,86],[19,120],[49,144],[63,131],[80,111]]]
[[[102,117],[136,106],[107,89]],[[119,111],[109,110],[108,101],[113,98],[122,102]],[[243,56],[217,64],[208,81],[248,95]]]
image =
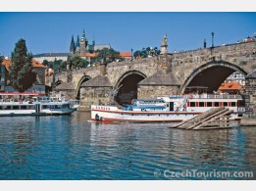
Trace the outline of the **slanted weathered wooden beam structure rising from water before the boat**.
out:
[[[171,126],[171,128],[187,129],[187,130],[206,130],[231,128],[230,114],[233,111],[227,108],[213,108],[192,119],[187,119]]]

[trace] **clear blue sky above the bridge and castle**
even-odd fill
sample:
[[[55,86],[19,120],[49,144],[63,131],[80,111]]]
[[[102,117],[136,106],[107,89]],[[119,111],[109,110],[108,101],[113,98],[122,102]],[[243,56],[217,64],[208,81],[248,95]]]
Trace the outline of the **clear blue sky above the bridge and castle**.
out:
[[[110,44],[118,51],[159,47],[165,33],[169,50],[234,43],[256,31],[256,13],[0,13],[0,54],[10,56],[26,39],[32,54],[69,52],[71,37],[84,28],[91,43]]]

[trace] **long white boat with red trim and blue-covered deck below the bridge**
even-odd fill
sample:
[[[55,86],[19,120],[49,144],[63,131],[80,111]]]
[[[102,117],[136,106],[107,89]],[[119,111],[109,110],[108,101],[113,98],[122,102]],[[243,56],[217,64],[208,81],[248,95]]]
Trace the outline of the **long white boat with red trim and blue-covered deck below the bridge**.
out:
[[[239,119],[244,105],[239,95],[185,95],[159,97],[156,100],[133,100],[128,106],[91,106],[95,121],[172,122],[191,119],[214,107],[233,111],[231,119]]]

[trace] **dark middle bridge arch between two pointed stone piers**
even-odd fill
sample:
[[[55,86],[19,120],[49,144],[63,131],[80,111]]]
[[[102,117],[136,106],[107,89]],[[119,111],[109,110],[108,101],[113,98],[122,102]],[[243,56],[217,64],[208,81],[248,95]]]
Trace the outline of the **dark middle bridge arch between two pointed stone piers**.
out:
[[[128,104],[131,99],[136,99],[137,84],[146,77],[146,74],[136,70],[125,72],[115,85],[114,99],[121,105]]]

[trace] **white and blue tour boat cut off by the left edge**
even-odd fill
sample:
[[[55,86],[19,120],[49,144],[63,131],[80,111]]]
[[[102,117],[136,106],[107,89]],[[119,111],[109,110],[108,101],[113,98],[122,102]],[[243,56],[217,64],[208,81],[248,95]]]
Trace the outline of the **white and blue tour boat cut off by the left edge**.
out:
[[[71,115],[68,101],[54,101],[36,93],[0,93],[0,117]]]

